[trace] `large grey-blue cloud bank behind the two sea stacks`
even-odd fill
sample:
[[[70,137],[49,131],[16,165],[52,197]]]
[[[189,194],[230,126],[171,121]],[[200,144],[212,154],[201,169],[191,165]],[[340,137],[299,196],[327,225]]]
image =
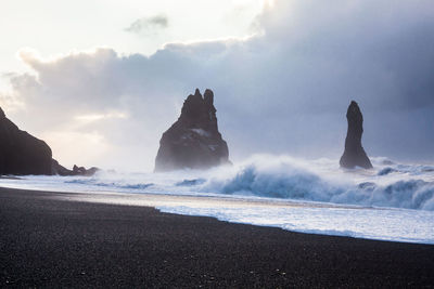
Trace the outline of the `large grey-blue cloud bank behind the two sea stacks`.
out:
[[[434,160],[431,1],[276,1],[257,23],[261,32],[247,39],[170,43],[149,57],[112,49],[52,60],[24,53],[35,75],[10,76],[9,95],[26,109],[12,117],[40,134],[99,135],[110,157],[89,153],[84,165],[151,170],[162,132],[196,87],[215,92],[232,159],[339,157],[356,100],[370,155]],[[61,161],[74,162],[80,139],[73,139],[53,147]]]

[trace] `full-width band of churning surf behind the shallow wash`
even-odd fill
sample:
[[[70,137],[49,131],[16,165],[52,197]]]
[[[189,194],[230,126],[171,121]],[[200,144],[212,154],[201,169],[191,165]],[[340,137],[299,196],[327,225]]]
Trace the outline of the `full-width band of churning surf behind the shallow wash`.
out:
[[[434,166],[395,163],[385,158],[371,160],[373,170],[343,170],[336,160],[258,155],[208,171],[102,171],[92,178],[26,176],[2,180],[2,184],[71,192],[224,195],[434,211]]]

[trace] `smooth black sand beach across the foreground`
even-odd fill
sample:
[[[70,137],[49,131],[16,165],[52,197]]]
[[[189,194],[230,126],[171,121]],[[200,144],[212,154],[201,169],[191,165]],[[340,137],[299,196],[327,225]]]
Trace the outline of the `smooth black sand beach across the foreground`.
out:
[[[434,246],[0,188],[0,287],[434,287]]]

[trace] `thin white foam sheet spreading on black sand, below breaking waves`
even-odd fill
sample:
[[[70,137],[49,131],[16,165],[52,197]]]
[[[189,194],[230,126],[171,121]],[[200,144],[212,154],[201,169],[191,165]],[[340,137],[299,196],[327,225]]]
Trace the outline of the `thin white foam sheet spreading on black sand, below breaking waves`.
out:
[[[272,208],[161,206],[163,212],[214,216],[220,221],[284,229],[405,242],[434,244],[434,214],[429,211],[372,208]]]

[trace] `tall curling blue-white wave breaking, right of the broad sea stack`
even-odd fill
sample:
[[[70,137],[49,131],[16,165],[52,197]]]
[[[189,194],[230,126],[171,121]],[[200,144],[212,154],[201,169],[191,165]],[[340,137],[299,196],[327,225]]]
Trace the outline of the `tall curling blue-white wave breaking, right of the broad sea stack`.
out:
[[[209,180],[202,191],[434,210],[434,182],[424,180],[432,180],[430,166],[396,165],[395,168],[363,171],[330,168],[330,163],[328,169],[323,166],[318,170],[314,163],[301,165],[288,157],[259,157],[235,169],[232,175]]]

